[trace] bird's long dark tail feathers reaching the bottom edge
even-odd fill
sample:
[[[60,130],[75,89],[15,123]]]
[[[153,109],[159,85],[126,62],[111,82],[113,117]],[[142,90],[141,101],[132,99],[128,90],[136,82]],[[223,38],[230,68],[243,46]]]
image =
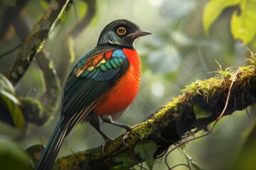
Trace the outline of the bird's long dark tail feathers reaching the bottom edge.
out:
[[[51,135],[46,148],[36,166],[36,170],[50,170],[53,169],[53,164],[63,143],[64,137],[67,133],[67,126],[63,126],[61,121],[58,122],[53,135]]]

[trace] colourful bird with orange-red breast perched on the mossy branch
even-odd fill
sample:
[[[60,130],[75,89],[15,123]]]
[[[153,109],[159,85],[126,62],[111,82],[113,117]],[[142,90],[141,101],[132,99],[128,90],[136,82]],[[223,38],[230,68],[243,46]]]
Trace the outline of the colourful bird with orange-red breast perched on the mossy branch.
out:
[[[151,34],[126,19],[107,24],[100,33],[97,46],[75,64],[63,90],[60,120],[36,166],[52,169],[64,138],[78,123],[90,123],[104,138],[102,122],[131,131],[133,127],[116,120],[134,101],[139,91],[141,61],[134,41]]]

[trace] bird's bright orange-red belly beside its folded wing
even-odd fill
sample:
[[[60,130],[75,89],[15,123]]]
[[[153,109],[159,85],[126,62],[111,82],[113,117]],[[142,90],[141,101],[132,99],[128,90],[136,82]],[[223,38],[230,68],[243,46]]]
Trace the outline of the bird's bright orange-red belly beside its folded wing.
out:
[[[96,115],[105,115],[124,110],[137,96],[139,83],[140,73],[134,74],[134,68],[130,66],[92,111]]]

